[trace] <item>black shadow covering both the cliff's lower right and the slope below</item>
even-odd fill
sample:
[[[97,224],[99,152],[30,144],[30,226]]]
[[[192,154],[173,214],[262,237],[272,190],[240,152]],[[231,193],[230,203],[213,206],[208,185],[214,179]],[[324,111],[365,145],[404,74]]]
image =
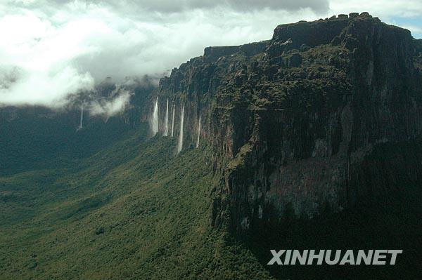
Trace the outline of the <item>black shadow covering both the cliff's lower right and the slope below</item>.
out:
[[[277,279],[421,279],[422,145],[374,147],[354,168],[359,204],[311,220],[254,225],[246,244]],[[402,249],[396,265],[267,265],[270,249]],[[388,257],[390,258],[390,257]],[[389,263],[389,260],[388,260]]]

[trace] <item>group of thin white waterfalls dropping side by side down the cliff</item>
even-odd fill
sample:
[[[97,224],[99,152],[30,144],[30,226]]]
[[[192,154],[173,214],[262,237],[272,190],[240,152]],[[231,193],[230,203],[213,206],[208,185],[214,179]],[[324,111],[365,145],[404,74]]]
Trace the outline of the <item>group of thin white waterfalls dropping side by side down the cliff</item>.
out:
[[[162,129],[162,136],[170,136],[174,137],[174,115],[176,112],[176,105],[172,105],[172,126],[171,131],[169,129],[169,99],[167,98],[167,105],[165,107],[165,119],[164,119],[164,129]],[[179,129],[179,141],[177,142],[177,153],[181,152],[183,149],[183,140],[184,140],[184,104],[181,105],[180,110],[180,129]],[[159,119],[159,107],[158,107],[158,98],[155,100],[153,114],[150,120],[151,131],[153,135],[157,135],[160,126],[160,119]],[[198,119],[198,130],[197,130],[197,138],[196,138],[196,147],[199,147],[199,140],[200,140],[200,115]]]

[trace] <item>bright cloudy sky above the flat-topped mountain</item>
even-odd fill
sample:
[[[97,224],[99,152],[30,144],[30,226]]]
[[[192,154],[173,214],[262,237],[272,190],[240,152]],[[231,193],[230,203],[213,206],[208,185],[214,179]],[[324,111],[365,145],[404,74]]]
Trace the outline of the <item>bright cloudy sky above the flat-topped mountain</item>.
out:
[[[160,76],[206,46],[353,11],[422,37],[420,0],[1,0],[0,106],[61,107],[106,76]]]

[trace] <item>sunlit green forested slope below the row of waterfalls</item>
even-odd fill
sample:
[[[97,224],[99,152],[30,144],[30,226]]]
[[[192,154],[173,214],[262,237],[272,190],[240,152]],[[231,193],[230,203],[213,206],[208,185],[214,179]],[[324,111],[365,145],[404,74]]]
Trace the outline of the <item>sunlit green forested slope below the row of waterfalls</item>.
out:
[[[267,279],[209,225],[210,150],[142,132],[0,178],[0,279]]]

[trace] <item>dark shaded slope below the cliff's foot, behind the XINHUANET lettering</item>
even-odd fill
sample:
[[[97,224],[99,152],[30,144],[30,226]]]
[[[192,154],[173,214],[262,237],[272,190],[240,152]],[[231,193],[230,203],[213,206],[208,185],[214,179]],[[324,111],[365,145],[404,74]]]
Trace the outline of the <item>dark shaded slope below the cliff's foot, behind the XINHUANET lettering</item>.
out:
[[[421,200],[412,201],[396,201],[389,208],[361,206],[326,218],[290,220],[283,227],[260,227],[245,244],[276,279],[419,279],[422,211],[415,203]],[[403,253],[396,265],[267,265],[270,249],[402,249]]]

